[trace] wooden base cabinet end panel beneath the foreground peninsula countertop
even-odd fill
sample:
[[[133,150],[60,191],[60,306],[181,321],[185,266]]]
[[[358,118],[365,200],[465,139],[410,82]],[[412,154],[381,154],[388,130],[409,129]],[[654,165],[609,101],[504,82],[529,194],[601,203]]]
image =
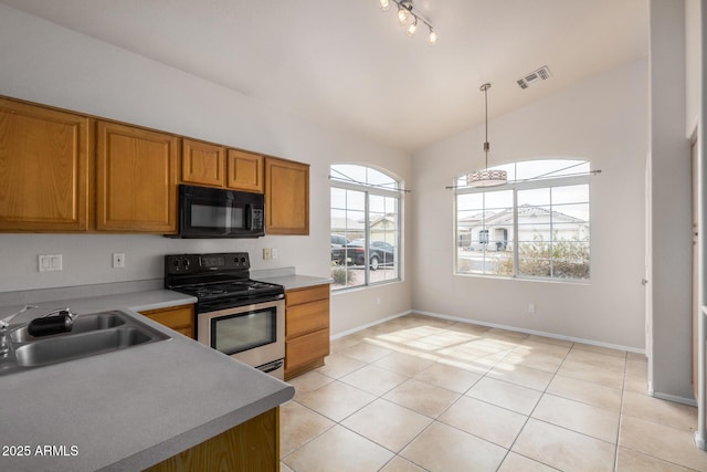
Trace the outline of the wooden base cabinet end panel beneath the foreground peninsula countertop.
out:
[[[167,471],[278,471],[279,407],[146,469]]]

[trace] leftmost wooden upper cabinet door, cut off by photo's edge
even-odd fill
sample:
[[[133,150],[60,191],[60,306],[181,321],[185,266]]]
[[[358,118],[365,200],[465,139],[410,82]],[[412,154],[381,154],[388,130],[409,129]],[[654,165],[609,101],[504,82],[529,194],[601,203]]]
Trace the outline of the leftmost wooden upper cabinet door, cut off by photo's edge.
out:
[[[0,98],[0,230],[88,229],[89,118]]]

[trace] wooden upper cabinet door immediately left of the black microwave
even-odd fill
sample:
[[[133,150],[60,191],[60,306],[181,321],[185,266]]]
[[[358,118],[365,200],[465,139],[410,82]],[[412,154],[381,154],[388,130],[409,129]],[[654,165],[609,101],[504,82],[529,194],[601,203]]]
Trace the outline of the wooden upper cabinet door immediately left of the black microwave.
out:
[[[98,122],[96,228],[177,232],[179,138]]]

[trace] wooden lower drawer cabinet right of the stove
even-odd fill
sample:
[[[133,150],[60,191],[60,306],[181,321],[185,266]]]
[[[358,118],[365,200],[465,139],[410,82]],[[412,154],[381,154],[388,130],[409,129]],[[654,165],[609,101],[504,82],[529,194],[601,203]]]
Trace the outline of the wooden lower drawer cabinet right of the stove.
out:
[[[324,365],[329,355],[329,284],[285,292],[285,379]]]

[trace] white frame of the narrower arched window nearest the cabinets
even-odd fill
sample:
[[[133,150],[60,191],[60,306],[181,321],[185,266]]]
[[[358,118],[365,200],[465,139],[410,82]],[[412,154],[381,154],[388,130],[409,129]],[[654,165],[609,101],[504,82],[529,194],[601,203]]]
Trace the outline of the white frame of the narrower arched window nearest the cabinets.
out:
[[[401,181],[392,176],[390,172],[386,171],[386,170],[381,170],[378,169],[376,167],[371,167],[371,166],[366,166],[366,165],[360,165],[360,164],[333,164],[330,165],[331,167],[335,167],[337,165],[347,165],[347,166],[358,166],[361,168],[366,168],[366,169],[371,169],[371,170],[376,170],[377,172],[383,174],[384,176],[389,177],[391,180],[393,180],[397,185],[397,189],[394,188],[386,188],[386,187],[381,187],[381,186],[374,186],[374,185],[369,185],[369,183],[365,183],[365,182],[354,182],[354,181],[347,181],[347,180],[340,180],[340,179],[336,179],[336,178],[331,178],[330,179],[330,185],[329,185],[329,196],[331,195],[331,189],[334,188],[338,188],[338,189],[342,189],[342,190],[351,190],[351,191],[358,191],[358,192],[362,192],[363,193],[363,200],[365,200],[365,209],[363,209],[363,213],[365,213],[365,218],[363,218],[363,240],[365,240],[365,259],[366,261],[370,261],[370,247],[371,247],[371,241],[370,241],[370,232],[371,232],[371,228],[370,228],[370,223],[371,223],[371,218],[370,218],[370,197],[371,196],[377,196],[377,197],[384,197],[384,198],[394,198],[398,200],[397,207],[398,207],[398,211],[397,211],[397,237],[395,237],[395,248],[397,250],[394,251],[394,259],[393,259],[393,264],[397,269],[397,274],[392,279],[387,279],[387,280],[382,280],[382,281],[377,281],[377,282],[371,282],[370,280],[370,264],[365,263],[363,264],[363,273],[365,273],[365,277],[363,277],[363,283],[360,285],[345,285],[341,287],[335,287],[334,285],[331,286],[331,292],[346,292],[349,290],[362,290],[369,286],[378,286],[378,285],[384,285],[384,284],[389,284],[389,283],[395,283],[395,282],[400,282],[402,281],[402,263],[403,263],[403,248],[402,248],[402,238],[403,238],[403,225],[402,225],[402,211],[403,211],[403,190],[401,189]],[[329,214],[331,214],[331,202],[329,202]],[[329,221],[329,231],[331,231],[331,221]],[[379,269],[380,270],[380,269]]]

